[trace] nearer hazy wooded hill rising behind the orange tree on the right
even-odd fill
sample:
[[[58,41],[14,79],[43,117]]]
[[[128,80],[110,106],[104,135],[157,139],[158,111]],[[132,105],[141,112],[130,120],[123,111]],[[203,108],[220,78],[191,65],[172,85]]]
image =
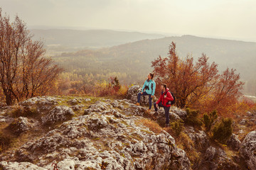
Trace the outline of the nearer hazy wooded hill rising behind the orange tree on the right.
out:
[[[140,40],[100,50],[63,53],[54,58],[69,71],[76,69],[78,72],[78,69],[81,69],[78,74],[119,72],[130,76],[126,81],[134,82],[152,71],[151,61],[156,57],[167,56],[172,41],[176,42],[180,57],[185,58],[191,54],[198,58],[205,53],[210,57],[210,62],[219,65],[220,70],[227,67],[237,69],[244,81],[256,77],[256,42],[200,38],[192,35]]]

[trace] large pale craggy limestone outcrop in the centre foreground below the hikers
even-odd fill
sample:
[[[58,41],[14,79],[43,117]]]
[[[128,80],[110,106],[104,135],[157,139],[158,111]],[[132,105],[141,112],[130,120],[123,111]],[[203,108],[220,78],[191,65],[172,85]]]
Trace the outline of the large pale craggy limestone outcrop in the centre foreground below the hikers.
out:
[[[127,100],[97,101],[84,115],[68,120],[66,115],[74,115],[71,108],[51,107],[43,125],[63,123],[1,155],[0,167],[53,169],[55,160],[58,169],[190,169],[186,152],[169,133],[144,126],[146,108]]]

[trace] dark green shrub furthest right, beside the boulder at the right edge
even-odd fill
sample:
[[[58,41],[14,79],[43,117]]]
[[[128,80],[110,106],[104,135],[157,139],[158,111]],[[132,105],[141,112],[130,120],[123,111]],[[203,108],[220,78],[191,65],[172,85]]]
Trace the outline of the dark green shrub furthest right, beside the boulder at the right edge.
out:
[[[213,128],[213,139],[218,140],[218,142],[222,144],[225,144],[230,135],[232,135],[232,132],[232,119],[222,119],[221,122],[216,124]]]

